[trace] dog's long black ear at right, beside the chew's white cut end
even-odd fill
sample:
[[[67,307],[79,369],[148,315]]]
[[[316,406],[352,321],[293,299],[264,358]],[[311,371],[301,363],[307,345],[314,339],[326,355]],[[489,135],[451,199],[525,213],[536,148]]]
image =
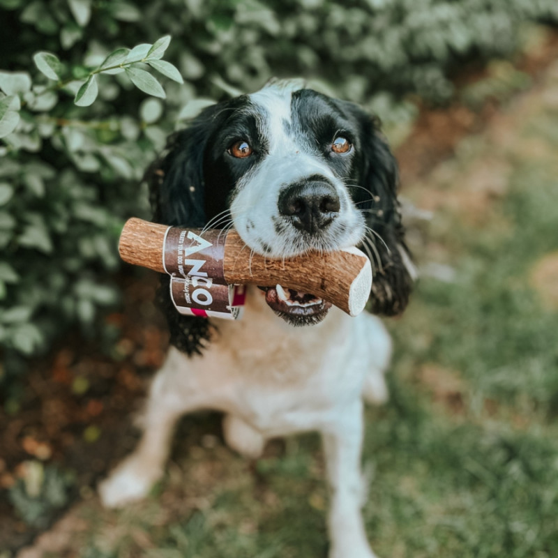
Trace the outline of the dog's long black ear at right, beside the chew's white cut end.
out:
[[[379,120],[359,109],[361,149],[353,198],[365,214],[368,232],[360,248],[372,263],[370,309],[398,315],[407,306],[416,271],[405,244],[398,202],[398,165],[380,132]]]

